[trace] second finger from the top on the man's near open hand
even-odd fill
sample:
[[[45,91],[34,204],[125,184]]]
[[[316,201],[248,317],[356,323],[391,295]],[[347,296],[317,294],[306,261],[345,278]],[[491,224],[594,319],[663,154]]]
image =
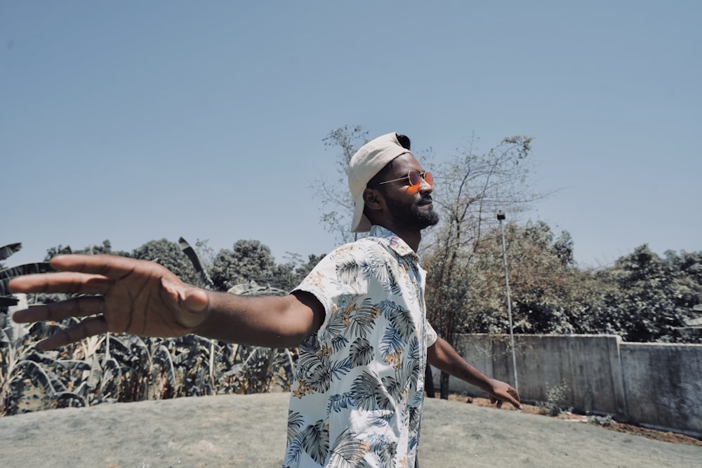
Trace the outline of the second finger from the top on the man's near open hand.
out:
[[[78,293],[104,294],[113,281],[95,274],[59,272],[28,274],[10,280],[13,293]]]

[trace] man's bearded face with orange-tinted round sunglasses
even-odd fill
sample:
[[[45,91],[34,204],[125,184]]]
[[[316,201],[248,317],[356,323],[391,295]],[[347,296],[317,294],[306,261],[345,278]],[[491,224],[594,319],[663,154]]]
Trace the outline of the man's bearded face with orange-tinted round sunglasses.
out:
[[[419,161],[409,153],[398,156],[392,163],[387,180],[405,177],[409,171],[423,173]],[[385,195],[385,203],[393,220],[408,229],[424,229],[439,222],[439,213],[434,210],[432,186],[422,180],[419,190],[409,187],[409,179],[397,180],[378,186]]]

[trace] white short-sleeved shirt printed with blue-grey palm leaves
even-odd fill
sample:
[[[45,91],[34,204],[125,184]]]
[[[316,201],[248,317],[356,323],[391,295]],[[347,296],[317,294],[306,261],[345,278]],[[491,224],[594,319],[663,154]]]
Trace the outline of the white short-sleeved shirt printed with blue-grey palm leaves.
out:
[[[416,466],[427,347],[425,271],[398,236],[334,250],[296,290],[326,317],[300,345],[284,467]]]

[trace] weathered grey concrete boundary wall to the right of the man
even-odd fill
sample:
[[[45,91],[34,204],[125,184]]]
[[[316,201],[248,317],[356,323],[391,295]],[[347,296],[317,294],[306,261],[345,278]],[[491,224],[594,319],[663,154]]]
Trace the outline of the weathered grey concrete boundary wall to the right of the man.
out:
[[[486,375],[515,384],[508,335],[462,335],[457,351]],[[515,335],[517,389],[547,401],[567,386],[562,406],[702,436],[702,345],[627,343],[614,335]],[[435,385],[439,372],[434,370]],[[484,395],[451,377],[453,392]]]

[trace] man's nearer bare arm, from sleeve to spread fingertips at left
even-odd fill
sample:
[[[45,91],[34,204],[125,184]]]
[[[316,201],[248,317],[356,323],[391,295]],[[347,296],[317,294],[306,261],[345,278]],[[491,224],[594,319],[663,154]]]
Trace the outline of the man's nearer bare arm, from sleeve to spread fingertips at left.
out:
[[[324,309],[309,293],[242,297],[189,286],[154,262],[113,255],[60,255],[57,273],[20,276],[15,293],[73,293],[80,297],[15,312],[20,323],[86,317],[40,343],[51,349],[91,335],[133,333],[174,337],[197,333],[218,340],[292,347],[319,328]]]

